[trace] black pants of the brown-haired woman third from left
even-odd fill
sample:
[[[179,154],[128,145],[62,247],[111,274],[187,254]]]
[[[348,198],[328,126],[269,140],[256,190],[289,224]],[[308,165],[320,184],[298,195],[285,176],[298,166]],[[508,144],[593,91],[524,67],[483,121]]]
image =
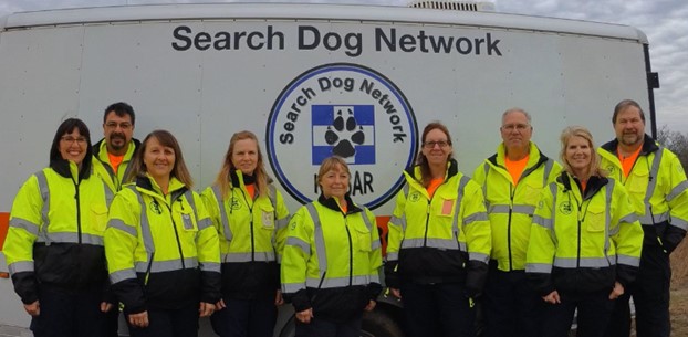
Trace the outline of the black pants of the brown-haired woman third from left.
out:
[[[199,305],[174,310],[148,308],[148,327],[129,325],[129,334],[132,337],[198,337],[198,308]]]

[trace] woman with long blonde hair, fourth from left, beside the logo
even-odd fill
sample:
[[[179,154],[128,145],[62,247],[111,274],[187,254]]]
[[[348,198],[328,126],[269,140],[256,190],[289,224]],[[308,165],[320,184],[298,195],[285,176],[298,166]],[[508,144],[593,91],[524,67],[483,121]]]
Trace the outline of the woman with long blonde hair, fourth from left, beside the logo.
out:
[[[271,337],[282,304],[278,263],[289,210],[253,133],[232,135],[222,168],[201,197],[220,236],[222,298],[212,328],[220,337]]]

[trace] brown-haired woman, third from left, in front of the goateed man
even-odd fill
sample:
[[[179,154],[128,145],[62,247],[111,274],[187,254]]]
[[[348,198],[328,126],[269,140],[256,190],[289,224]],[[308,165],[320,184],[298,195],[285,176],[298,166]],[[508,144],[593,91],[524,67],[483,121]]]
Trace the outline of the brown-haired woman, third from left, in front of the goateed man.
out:
[[[198,317],[220,299],[220,251],[177,139],[148,134],[126,181],[110,209],[105,255],[129,333],[198,336]]]

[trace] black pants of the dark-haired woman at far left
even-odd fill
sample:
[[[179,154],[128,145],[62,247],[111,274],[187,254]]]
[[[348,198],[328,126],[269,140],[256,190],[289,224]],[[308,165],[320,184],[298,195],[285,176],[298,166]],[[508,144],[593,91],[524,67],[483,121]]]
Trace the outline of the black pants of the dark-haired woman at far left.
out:
[[[66,292],[39,287],[41,314],[31,319],[34,337],[105,337],[102,287]]]

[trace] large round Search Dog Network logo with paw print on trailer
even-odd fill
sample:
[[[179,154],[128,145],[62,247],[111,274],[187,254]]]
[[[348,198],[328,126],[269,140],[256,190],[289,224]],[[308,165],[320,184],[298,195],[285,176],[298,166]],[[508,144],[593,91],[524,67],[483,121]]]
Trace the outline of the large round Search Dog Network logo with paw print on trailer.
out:
[[[362,65],[334,63],[304,72],[282,91],[265,134],[270,165],[296,200],[320,196],[320,164],[336,155],[348,165],[354,200],[375,209],[402,187],[418,130],[392,81]]]

